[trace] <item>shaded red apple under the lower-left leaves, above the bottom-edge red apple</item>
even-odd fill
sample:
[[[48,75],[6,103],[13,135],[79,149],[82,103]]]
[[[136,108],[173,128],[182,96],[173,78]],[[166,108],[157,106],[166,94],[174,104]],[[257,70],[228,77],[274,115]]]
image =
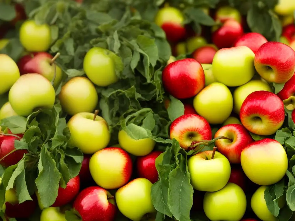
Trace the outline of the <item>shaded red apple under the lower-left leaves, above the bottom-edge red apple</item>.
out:
[[[80,191],[80,177],[76,176],[69,180],[65,188],[58,188],[58,195],[52,207],[61,207],[70,203]]]

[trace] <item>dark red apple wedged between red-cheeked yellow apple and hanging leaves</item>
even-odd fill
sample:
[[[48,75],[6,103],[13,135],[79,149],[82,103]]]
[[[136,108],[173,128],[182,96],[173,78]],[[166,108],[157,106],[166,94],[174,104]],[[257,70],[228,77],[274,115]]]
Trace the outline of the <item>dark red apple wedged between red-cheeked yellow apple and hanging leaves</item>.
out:
[[[155,161],[163,151],[153,151],[146,156],[137,157],[136,168],[138,177],[148,179],[155,183],[159,179],[159,174],[156,169]]]

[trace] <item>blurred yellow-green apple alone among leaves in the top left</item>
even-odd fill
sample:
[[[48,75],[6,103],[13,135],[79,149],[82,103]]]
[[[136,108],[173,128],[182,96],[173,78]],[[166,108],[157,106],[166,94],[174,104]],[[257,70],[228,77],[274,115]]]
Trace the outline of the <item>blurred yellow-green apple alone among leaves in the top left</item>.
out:
[[[27,20],[19,29],[19,40],[29,52],[45,52],[51,45],[50,26]]]

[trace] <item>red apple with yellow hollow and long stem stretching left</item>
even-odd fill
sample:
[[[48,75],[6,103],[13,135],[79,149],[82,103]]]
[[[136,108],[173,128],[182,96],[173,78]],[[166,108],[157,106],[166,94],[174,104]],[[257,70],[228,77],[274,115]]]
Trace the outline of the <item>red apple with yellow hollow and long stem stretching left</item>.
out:
[[[241,152],[248,144],[253,142],[249,131],[241,124],[228,124],[221,127],[214,135],[214,138],[226,136],[228,139],[215,141],[217,150],[222,153],[232,164],[241,163]]]

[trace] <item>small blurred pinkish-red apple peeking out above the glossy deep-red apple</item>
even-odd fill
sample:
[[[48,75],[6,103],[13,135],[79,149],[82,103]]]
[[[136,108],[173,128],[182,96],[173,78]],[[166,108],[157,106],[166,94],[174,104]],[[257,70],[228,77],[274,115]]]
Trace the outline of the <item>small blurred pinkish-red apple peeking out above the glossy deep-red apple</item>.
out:
[[[217,51],[218,49],[214,44],[208,44],[196,49],[191,56],[202,64],[212,64]]]

